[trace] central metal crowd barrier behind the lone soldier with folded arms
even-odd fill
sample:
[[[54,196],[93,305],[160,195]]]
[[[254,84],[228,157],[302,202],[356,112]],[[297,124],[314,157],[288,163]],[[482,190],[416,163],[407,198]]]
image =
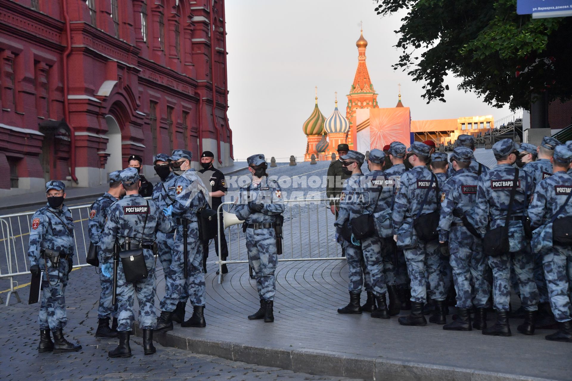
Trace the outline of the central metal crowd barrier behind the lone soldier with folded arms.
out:
[[[304,199],[284,200],[283,254],[279,256],[279,262],[345,259],[336,242],[336,230],[333,227],[335,216],[329,208],[330,200],[308,196]],[[224,218],[232,220],[232,224],[227,220],[227,226],[224,226],[225,230],[228,228],[228,234],[225,233],[228,256],[227,260],[217,261],[219,284],[224,280],[223,264],[248,263],[246,243],[241,243],[240,239],[243,234],[242,222],[239,223],[235,215],[229,215],[232,214],[234,205],[232,202],[224,202],[217,210],[219,226],[224,223]],[[231,208],[224,210],[224,206]],[[221,235],[217,235],[216,239],[220,248]]]

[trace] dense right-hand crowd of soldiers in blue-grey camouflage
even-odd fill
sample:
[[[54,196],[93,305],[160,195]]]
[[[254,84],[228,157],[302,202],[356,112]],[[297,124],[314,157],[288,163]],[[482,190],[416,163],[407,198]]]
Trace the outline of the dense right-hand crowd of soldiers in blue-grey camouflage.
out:
[[[510,336],[514,290],[519,332],[554,328],[547,340],[572,342],[572,143],[503,139],[492,146],[493,169],[476,161],[471,135],[458,137],[450,157],[428,143],[371,150],[367,175],[365,156],[338,146],[327,194],[348,261],[349,303],[337,311],[389,319],[410,310],[399,324],[425,326],[431,315],[444,330]],[[447,323],[450,306],[456,314]],[[487,324],[491,307],[496,321]]]

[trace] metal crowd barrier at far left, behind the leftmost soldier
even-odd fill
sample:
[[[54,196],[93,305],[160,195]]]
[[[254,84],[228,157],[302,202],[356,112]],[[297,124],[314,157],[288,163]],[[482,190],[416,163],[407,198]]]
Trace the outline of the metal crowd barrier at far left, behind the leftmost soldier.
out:
[[[88,220],[91,204],[69,207],[74,220],[74,268],[90,266],[85,262],[89,247]],[[9,291],[6,294],[6,306],[12,295],[21,302],[18,295],[18,280],[26,280],[30,276],[27,250],[30,235],[31,216],[35,211],[6,214],[0,216],[0,279],[8,279]],[[80,255],[83,254],[83,255]],[[5,261],[3,260],[5,259]],[[1,294],[0,294],[1,295]],[[2,303],[0,298],[0,303]]]

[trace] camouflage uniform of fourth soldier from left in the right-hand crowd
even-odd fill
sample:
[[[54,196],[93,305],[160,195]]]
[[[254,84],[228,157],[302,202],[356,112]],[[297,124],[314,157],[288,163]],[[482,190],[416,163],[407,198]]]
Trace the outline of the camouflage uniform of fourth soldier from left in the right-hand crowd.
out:
[[[414,142],[410,150],[420,155],[428,155],[429,147],[423,143]],[[400,187],[395,197],[392,214],[394,232],[398,236],[397,245],[403,248],[407,261],[407,271],[411,279],[411,301],[427,302],[427,283],[434,293],[434,300],[444,300],[447,292],[443,275],[439,269],[439,255],[436,248],[439,243],[424,242],[418,239],[413,222],[423,198],[428,191],[427,202],[423,206],[423,214],[437,209],[439,200],[436,199],[436,184],[428,189],[432,173],[425,166],[416,166],[401,177]]]

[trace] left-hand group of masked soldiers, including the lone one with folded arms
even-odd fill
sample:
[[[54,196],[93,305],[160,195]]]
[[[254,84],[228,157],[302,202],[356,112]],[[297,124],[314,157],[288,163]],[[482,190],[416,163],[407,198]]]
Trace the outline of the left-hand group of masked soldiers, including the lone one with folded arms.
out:
[[[181,327],[206,327],[204,273],[209,242],[200,238],[199,215],[211,207],[216,210],[227,192],[223,173],[213,167],[213,157],[210,151],[202,153],[202,169],[197,173],[192,169],[192,153],[188,150],[174,150],[170,156],[157,154],[153,165],[160,181],[154,187],[151,185],[149,192],[150,183],[140,174],[142,159],[132,155],[127,169],[109,174],[109,190],[90,207],[89,236],[101,267],[96,336],[119,338],[117,348],[109,351],[110,357],[132,355],[129,336],[135,320],[135,297],[146,355],[156,351],[153,332],[172,330],[173,322],[180,323]],[[276,227],[284,203],[277,182],[267,179],[264,155],[249,157],[248,165],[252,182],[241,189],[244,204],[237,204],[236,208],[237,215],[245,220],[243,228],[261,306],[248,318],[272,322]],[[43,287],[39,352],[81,350],[79,344],[68,342],[62,332],[67,323],[64,293],[74,255],[74,222],[64,204],[65,196],[63,182],[47,182],[47,204],[32,217],[28,250],[30,272],[42,276]],[[219,234],[221,231],[222,225]],[[215,244],[215,248],[217,255],[225,260],[227,243],[224,235],[220,238],[221,247]],[[119,260],[121,253],[127,253],[126,259],[121,256]],[[132,264],[124,259],[134,261],[137,254],[142,256],[145,270],[144,275],[132,280],[133,270],[124,267],[125,263],[128,267]],[[154,304],[156,256],[165,278],[165,296],[160,300],[158,318]],[[222,271],[228,272],[227,266],[222,266]],[[185,320],[188,301],[193,306],[193,314]]]

